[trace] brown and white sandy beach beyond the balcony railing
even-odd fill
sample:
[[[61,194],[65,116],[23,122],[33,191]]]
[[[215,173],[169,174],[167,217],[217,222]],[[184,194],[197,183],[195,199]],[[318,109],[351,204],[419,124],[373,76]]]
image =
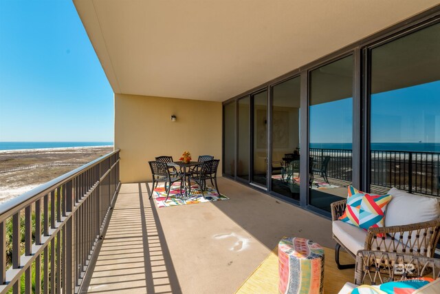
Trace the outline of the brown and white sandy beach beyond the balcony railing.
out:
[[[0,151],[0,204],[111,151],[111,146]]]

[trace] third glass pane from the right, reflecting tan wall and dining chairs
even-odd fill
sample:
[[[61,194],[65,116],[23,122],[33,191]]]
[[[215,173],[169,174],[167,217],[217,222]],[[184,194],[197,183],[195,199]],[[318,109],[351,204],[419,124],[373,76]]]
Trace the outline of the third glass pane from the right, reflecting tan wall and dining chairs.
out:
[[[300,198],[300,77],[273,87],[272,191]]]

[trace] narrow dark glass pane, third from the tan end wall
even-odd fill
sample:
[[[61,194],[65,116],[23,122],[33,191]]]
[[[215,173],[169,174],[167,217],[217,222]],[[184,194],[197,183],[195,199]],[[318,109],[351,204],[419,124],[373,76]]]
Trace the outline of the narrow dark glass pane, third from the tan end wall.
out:
[[[254,172],[252,182],[267,185],[267,91],[253,96],[254,101]]]

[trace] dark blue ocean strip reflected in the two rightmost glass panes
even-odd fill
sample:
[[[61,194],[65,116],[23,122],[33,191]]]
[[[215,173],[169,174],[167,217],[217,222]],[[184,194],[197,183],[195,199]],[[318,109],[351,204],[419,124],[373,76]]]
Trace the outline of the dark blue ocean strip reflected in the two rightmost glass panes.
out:
[[[349,149],[351,143],[310,143],[311,148]],[[440,143],[371,143],[371,150],[440,152]]]

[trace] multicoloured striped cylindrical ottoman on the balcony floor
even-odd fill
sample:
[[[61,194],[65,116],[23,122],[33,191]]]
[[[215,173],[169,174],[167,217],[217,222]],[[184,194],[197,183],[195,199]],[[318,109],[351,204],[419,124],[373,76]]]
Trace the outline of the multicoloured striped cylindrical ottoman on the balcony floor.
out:
[[[324,249],[304,238],[284,238],[278,244],[280,293],[322,293]]]

